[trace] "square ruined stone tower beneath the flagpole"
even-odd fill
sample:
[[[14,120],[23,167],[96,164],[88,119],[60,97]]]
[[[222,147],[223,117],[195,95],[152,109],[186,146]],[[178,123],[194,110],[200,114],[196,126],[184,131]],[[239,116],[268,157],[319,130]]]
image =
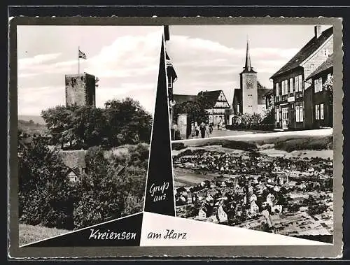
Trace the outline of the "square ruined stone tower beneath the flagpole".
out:
[[[96,106],[96,78],[88,73],[66,75],[66,106]]]

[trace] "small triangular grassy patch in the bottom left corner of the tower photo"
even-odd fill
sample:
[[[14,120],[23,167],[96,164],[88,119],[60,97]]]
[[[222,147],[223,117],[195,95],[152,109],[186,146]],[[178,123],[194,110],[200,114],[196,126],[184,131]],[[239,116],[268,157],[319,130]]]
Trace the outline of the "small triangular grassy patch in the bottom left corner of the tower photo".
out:
[[[69,230],[42,227],[40,225],[20,224],[20,246],[65,234]]]

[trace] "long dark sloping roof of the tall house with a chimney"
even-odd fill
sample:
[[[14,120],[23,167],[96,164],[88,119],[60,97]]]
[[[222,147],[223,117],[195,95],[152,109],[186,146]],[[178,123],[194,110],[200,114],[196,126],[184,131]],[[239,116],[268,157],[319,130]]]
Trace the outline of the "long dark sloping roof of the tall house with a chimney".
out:
[[[284,66],[279,69],[279,71],[276,71],[271,78],[274,78],[276,76],[279,76],[281,73],[285,73],[286,71],[293,70],[300,66],[302,62],[304,62],[307,57],[309,57],[313,52],[315,52],[320,46],[333,34],[333,27],[330,27],[329,29],[326,29],[322,32],[321,36],[316,38],[311,38],[311,40],[304,45],[303,48],[297,54],[289,60]]]

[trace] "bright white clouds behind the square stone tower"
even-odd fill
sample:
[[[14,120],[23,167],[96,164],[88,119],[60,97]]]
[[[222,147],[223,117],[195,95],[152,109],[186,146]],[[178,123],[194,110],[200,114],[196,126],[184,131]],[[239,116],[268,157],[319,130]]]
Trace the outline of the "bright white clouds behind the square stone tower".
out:
[[[90,57],[87,54],[87,59],[80,59],[80,72],[99,78],[97,106],[103,107],[109,99],[130,96],[153,112],[161,37],[162,27],[153,27],[144,34],[120,36],[109,45],[100,45]],[[64,105],[64,75],[76,73],[78,58],[66,59],[61,54],[64,52],[18,60],[20,114],[38,115],[42,109]]]

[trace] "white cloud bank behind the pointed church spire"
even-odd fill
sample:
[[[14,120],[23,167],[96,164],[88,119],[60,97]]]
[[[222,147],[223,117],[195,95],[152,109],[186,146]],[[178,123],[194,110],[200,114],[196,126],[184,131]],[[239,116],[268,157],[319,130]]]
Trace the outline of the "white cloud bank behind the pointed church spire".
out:
[[[293,57],[296,48],[249,49],[252,66],[258,72],[262,85],[271,87],[269,77]],[[197,94],[201,90],[223,90],[229,101],[233,90],[239,87],[246,47],[232,48],[204,38],[174,35],[167,45],[178,80],[174,83],[176,94]]]

